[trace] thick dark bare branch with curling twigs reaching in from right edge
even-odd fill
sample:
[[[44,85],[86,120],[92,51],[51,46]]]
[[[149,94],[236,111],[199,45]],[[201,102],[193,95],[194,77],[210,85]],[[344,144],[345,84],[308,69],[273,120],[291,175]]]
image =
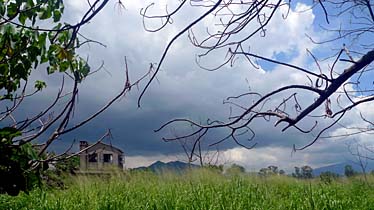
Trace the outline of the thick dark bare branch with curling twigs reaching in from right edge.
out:
[[[332,80],[328,79],[327,77],[322,77],[324,80],[326,80],[326,82],[329,82],[329,85],[326,85],[326,87],[324,87],[324,89],[318,89],[317,87],[310,87],[310,86],[305,86],[305,85],[290,85],[290,86],[284,86],[284,87],[278,88],[277,90],[274,90],[274,91],[272,91],[268,94],[265,94],[265,95],[260,95],[258,93],[257,94],[256,93],[246,93],[246,94],[240,95],[239,97],[229,97],[228,99],[237,99],[237,98],[244,97],[244,96],[247,96],[247,95],[256,95],[256,96],[259,96],[260,98],[257,101],[255,101],[248,108],[245,108],[243,106],[239,106],[235,103],[231,103],[231,104],[236,105],[237,107],[239,107],[241,109],[244,109],[244,110],[243,110],[242,114],[240,114],[240,115],[238,115],[234,118],[231,118],[233,120],[230,121],[230,122],[227,122],[227,123],[202,125],[202,124],[198,124],[198,123],[195,123],[195,122],[193,122],[191,120],[187,120],[187,119],[174,119],[174,120],[171,120],[171,121],[165,123],[163,126],[161,126],[156,131],[160,131],[163,128],[165,128],[165,127],[167,127],[171,124],[174,124],[176,122],[184,122],[184,123],[190,124],[191,126],[197,128],[197,129],[194,132],[186,134],[186,135],[181,135],[179,137],[173,137],[173,138],[164,138],[164,139],[167,140],[167,141],[173,141],[173,140],[178,140],[178,139],[181,139],[181,138],[187,138],[187,137],[198,135],[197,139],[200,140],[206,133],[208,133],[208,130],[210,130],[210,129],[229,128],[229,129],[231,129],[231,133],[228,136],[224,137],[221,140],[218,140],[217,142],[211,144],[210,146],[217,145],[217,144],[222,143],[222,142],[224,142],[228,139],[232,139],[236,144],[238,144],[240,146],[243,146],[243,147],[246,147],[245,145],[241,144],[237,140],[236,136],[239,134],[238,131],[241,130],[241,129],[244,129],[244,128],[249,130],[250,127],[248,127],[248,126],[256,118],[259,118],[259,117],[260,118],[276,117],[276,118],[278,118],[278,120],[276,121],[275,126],[279,125],[282,122],[287,123],[286,127],[283,128],[282,131],[287,130],[289,127],[294,127],[297,130],[299,130],[300,132],[309,133],[314,128],[316,128],[317,121],[308,130],[301,129],[300,127],[297,126],[297,123],[299,121],[301,121],[302,119],[304,119],[306,116],[310,115],[310,113],[313,112],[314,110],[316,110],[318,107],[320,107],[322,105],[322,103],[324,103],[325,101],[329,101],[329,98],[337,91],[337,89],[339,87],[341,87],[343,84],[345,84],[347,82],[347,80],[352,77],[352,75],[359,72],[362,68],[364,68],[365,66],[370,64],[373,60],[374,60],[374,51],[370,51],[367,54],[365,54],[361,59],[356,61],[353,65],[351,65],[349,68],[347,68],[339,77],[337,77],[335,79],[332,79]],[[293,68],[293,67],[291,66],[291,68]],[[303,72],[305,72],[305,71],[303,71]],[[322,79],[320,77],[318,77],[318,78]],[[320,87],[320,86],[318,86],[318,87]],[[309,106],[307,106],[305,109],[300,110],[300,112],[297,112],[297,115],[294,118],[291,118],[285,112],[285,110],[279,110],[279,107],[280,106],[285,106],[285,103],[290,98],[292,98],[292,95],[291,95],[291,97],[288,97],[283,102],[281,102],[278,106],[276,106],[274,111],[271,111],[271,110],[270,111],[265,111],[265,112],[261,111],[263,106],[259,106],[259,105],[262,102],[266,101],[268,98],[270,98],[274,95],[277,95],[279,93],[283,93],[284,91],[293,90],[293,89],[294,90],[306,90],[307,92],[315,93],[315,94],[317,94],[317,99],[313,103],[311,103]],[[327,127],[323,128],[317,134],[317,136],[313,139],[313,141],[311,141],[309,144],[307,144],[307,145],[305,145],[301,148],[296,148],[296,146],[295,146],[295,150],[302,150],[302,149],[305,149],[305,148],[313,145],[324,132],[326,132],[331,127],[333,127],[336,123],[338,123],[347,111],[349,111],[350,109],[352,109],[353,107],[355,107],[355,106],[357,106],[361,103],[369,102],[369,101],[372,101],[372,100],[373,100],[373,97],[367,97],[365,99],[358,100],[358,101],[355,101],[355,102],[351,101],[351,104],[349,106],[347,106],[345,108],[342,108],[341,110],[339,110],[335,113],[328,113],[328,116],[330,116],[331,118],[334,119],[337,116],[338,116],[338,118],[334,119],[333,123],[331,123]],[[295,106],[301,107],[298,104],[296,96],[295,96],[295,103],[296,103]],[[259,109],[259,110],[256,110],[256,109]],[[252,131],[252,130],[250,130],[250,131]],[[245,131],[244,131],[244,133],[245,133]],[[253,134],[254,134],[254,132],[253,132]],[[252,134],[252,137],[249,138],[250,141],[254,138],[253,134]],[[196,144],[197,143],[198,143],[198,141],[196,141]],[[253,146],[246,147],[246,148],[252,148],[252,147]]]

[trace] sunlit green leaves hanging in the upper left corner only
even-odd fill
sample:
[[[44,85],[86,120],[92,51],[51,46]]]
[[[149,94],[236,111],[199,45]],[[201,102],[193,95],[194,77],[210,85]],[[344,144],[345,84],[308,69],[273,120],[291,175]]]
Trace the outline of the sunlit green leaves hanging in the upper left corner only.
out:
[[[41,63],[47,63],[49,74],[70,70],[81,80],[90,68],[76,52],[79,42],[69,24],[60,22],[64,6],[62,0],[0,0],[0,90],[6,90],[3,98],[12,98],[27,81],[31,71]],[[18,22],[17,22],[18,21]],[[49,21],[51,29],[40,28]],[[49,23],[48,22],[48,23]],[[37,81],[41,90],[45,83]]]

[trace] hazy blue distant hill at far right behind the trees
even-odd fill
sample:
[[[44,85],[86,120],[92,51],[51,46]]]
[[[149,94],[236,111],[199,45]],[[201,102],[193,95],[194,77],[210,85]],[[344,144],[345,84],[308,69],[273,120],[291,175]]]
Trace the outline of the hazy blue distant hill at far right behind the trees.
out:
[[[356,164],[354,162],[351,162],[351,161],[347,161],[347,162],[332,164],[332,165],[328,165],[328,166],[324,166],[324,167],[320,167],[320,168],[315,168],[315,169],[313,169],[313,175],[314,176],[319,176],[322,172],[330,171],[330,172],[333,172],[333,173],[336,173],[336,174],[339,174],[339,175],[343,176],[344,175],[344,167],[346,165],[351,165],[353,170],[355,170],[357,172],[362,172],[361,167],[358,164]],[[368,162],[368,165],[366,167],[366,171],[369,173],[372,170],[374,170],[374,164],[371,163],[371,162]]]

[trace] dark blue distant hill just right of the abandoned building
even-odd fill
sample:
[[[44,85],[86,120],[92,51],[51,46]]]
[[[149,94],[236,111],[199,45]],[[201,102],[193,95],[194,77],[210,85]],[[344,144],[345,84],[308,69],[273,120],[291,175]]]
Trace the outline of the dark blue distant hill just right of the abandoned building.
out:
[[[197,168],[199,166],[194,165],[194,164],[189,165],[188,163],[181,162],[181,161],[171,161],[167,163],[164,163],[162,161],[156,161],[148,167],[138,167],[132,170],[150,170],[155,173],[161,173],[163,171],[181,172],[183,170],[188,169],[189,167]]]

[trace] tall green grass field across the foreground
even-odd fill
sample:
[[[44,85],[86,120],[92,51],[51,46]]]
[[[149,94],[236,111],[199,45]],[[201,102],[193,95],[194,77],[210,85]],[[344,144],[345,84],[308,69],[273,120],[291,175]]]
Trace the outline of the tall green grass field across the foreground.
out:
[[[369,184],[359,178],[324,184],[286,176],[228,177],[208,170],[73,177],[64,190],[0,195],[0,209],[374,209],[374,178],[369,177]]]

